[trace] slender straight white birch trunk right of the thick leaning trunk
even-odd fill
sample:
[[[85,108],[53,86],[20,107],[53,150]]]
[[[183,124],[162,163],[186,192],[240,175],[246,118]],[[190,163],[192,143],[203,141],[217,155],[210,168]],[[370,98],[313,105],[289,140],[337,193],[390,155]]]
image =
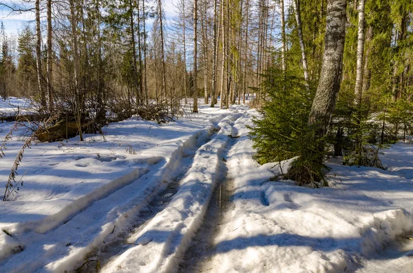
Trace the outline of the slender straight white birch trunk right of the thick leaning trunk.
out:
[[[364,6],[366,0],[359,1],[359,32],[357,40],[357,71],[356,71],[356,85],[354,87],[354,96],[357,103],[361,103],[363,96],[363,54],[364,54]]]

